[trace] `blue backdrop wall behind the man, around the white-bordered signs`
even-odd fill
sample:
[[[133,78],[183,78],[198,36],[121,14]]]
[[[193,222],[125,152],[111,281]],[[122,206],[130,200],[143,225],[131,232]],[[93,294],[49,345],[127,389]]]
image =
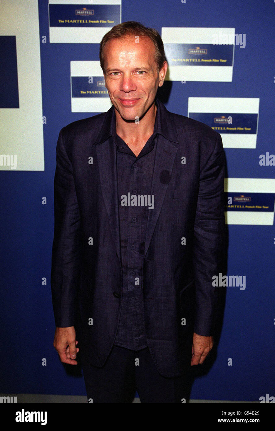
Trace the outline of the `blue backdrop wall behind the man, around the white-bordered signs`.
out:
[[[261,154],[275,153],[274,1],[122,0],[121,11],[122,22],[139,21],[160,33],[162,27],[215,27],[235,28],[236,33],[246,35],[246,46],[235,46],[231,82],[172,81],[165,104],[168,110],[187,116],[188,97],[260,98],[256,148],[225,148],[226,177],[275,178],[275,166],[259,163]],[[98,60],[99,44],[49,43],[47,0],[39,0],[39,27],[45,168],[0,173],[0,391],[85,395],[80,370],[62,365],[53,348],[53,178],[59,130],[96,114],[71,112],[70,62]],[[42,43],[43,36],[46,43]],[[275,228],[255,224],[227,228],[227,274],[245,275],[246,288],[226,289],[219,344],[210,364],[194,371],[191,398],[259,400],[266,394],[275,396]]]

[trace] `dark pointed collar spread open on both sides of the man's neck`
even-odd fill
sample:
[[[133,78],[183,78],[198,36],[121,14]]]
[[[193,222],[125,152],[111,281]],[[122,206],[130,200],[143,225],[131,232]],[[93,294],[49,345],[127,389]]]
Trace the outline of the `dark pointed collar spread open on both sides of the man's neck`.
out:
[[[169,141],[179,143],[176,134],[176,128],[173,126],[173,118],[171,113],[167,111],[164,104],[158,98],[155,99],[155,103],[157,105],[155,133],[161,134]],[[111,108],[106,112],[102,128],[94,145],[107,141],[108,137],[115,134],[115,130],[115,110],[114,105],[112,105]]]

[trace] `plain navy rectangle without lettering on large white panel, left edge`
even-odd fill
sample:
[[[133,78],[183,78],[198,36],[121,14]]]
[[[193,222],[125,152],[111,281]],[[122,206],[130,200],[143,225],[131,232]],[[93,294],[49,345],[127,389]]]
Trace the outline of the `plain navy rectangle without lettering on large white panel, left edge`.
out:
[[[0,36],[0,65],[0,108],[19,108],[15,36]]]

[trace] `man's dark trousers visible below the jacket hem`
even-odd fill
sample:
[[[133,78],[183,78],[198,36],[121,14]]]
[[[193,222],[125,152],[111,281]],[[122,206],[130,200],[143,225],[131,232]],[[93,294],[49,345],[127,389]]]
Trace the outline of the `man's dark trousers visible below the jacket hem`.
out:
[[[184,377],[159,374],[148,347],[134,351],[113,346],[102,368],[81,356],[88,403],[184,403],[189,396],[189,368]],[[191,368],[191,366],[190,366]]]

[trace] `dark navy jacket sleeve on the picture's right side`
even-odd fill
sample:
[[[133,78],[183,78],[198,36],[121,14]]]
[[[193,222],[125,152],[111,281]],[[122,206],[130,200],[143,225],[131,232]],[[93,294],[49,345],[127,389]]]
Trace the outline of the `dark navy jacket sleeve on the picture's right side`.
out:
[[[200,169],[194,227],[193,266],[196,291],[194,332],[204,336],[212,336],[215,325],[218,288],[213,287],[212,277],[219,275],[223,258],[224,172],[222,138],[217,134],[214,149]]]

